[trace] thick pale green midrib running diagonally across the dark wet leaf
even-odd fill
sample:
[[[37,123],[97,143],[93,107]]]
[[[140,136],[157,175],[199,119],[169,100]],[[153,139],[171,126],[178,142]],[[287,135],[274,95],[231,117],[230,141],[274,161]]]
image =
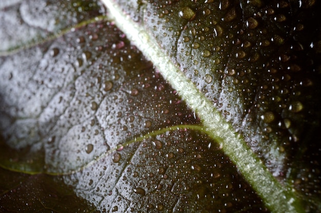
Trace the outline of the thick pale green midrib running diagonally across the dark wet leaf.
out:
[[[114,19],[117,27],[154,63],[164,78],[202,119],[206,132],[237,165],[238,171],[252,185],[266,206],[272,212],[304,212],[294,189],[285,188],[271,175],[247,146],[243,137],[233,130],[205,95],[174,65],[154,38],[124,14],[114,1],[102,1],[109,9],[109,16]]]

